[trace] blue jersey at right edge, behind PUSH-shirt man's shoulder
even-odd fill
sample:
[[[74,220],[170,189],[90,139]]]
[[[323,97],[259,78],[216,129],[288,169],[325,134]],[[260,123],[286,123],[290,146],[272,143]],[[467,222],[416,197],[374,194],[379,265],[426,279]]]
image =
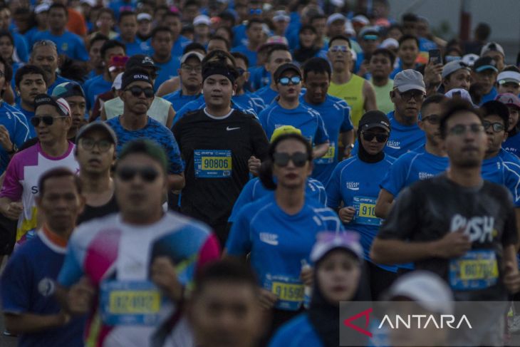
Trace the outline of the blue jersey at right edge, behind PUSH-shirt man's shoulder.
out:
[[[516,207],[520,207],[520,159],[501,149],[498,155],[484,159],[482,178],[506,186],[513,196]]]

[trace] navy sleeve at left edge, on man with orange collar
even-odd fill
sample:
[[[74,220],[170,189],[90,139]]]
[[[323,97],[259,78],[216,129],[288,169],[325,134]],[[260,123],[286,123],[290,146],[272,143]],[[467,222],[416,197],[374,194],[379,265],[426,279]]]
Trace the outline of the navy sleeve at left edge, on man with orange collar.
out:
[[[31,266],[26,263],[24,253],[14,253],[1,276],[0,291],[2,310],[12,314],[22,314],[30,309]]]

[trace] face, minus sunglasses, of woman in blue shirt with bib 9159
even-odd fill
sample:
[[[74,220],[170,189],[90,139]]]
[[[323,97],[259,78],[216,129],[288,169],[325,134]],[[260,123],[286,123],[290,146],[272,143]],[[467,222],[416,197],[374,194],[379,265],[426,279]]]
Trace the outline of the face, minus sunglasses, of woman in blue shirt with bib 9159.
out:
[[[298,140],[288,139],[281,141],[276,146],[276,153],[293,156],[296,153],[306,154],[306,147]],[[304,189],[307,177],[313,170],[312,163],[306,160],[303,166],[296,166],[294,160],[289,160],[286,166],[273,164],[273,177],[276,177],[278,185],[287,189]]]

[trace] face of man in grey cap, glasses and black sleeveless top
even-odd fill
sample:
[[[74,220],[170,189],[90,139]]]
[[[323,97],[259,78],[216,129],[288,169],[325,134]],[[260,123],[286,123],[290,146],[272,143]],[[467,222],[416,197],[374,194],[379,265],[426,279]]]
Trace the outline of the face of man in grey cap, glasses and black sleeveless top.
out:
[[[114,163],[114,151],[115,146],[104,131],[93,129],[86,133],[76,147],[80,172],[90,175],[107,172]]]

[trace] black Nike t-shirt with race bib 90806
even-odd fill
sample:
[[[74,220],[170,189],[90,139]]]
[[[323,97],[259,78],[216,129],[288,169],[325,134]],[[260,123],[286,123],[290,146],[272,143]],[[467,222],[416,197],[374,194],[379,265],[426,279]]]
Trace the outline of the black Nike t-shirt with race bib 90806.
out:
[[[186,164],[181,212],[212,226],[227,223],[249,180],[249,157],[266,157],[264,129],[254,116],[237,110],[224,118],[198,110],[179,120],[173,134]]]

